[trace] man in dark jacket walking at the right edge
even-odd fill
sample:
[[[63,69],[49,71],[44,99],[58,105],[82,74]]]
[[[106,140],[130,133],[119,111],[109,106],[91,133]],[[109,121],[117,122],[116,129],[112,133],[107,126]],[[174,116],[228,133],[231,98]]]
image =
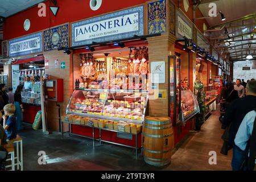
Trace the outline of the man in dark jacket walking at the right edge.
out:
[[[223,124],[225,126],[230,126],[229,131],[229,146],[233,147],[233,159],[232,159],[232,168],[234,170],[239,170],[241,166],[239,166],[240,162],[237,162],[237,153],[241,152],[238,150],[238,147],[234,143],[234,139],[236,138],[237,131],[243,121],[243,118],[249,111],[254,110],[256,108],[256,81],[250,81],[246,86],[246,96],[244,98],[239,98],[238,100],[234,100],[228,107],[225,112]],[[247,151],[244,151],[247,152]],[[237,165],[236,165],[237,164]]]

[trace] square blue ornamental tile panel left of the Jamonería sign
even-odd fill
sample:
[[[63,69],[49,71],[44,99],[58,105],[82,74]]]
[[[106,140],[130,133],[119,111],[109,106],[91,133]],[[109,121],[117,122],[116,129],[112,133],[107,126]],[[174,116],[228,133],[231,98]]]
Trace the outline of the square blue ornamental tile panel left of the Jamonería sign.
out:
[[[44,51],[68,46],[68,24],[44,31]]]

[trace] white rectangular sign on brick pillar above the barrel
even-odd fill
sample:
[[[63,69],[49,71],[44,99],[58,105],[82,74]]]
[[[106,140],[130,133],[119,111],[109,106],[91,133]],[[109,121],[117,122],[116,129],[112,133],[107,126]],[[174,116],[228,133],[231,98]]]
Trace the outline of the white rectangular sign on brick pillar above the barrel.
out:
[[[166,82],[166,62],[151,62],[151,82],[154,84],[164,84]]]

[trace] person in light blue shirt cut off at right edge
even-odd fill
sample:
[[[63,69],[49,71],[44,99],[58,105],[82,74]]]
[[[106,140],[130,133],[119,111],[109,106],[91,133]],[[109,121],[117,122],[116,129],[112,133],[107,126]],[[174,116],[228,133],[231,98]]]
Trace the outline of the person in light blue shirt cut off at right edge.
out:
[[[256,161],[256,109],[245,115],[234,142],[240,149],[237,158],[243,161],[240,168],[253,171]]]

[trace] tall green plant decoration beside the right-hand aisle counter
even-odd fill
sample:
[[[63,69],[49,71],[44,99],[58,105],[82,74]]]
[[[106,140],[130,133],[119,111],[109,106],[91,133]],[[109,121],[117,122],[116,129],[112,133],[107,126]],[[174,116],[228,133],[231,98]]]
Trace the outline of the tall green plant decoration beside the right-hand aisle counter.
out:
[[[200,113],[196,115],[196,130],[200,130],[201,126],[203,125],[205,121],[205,97],[206,94],[204,92],[204,85],[201,82],[195,82],[195,93],[196,93],[196,98],[197,102],[200,107]]]

